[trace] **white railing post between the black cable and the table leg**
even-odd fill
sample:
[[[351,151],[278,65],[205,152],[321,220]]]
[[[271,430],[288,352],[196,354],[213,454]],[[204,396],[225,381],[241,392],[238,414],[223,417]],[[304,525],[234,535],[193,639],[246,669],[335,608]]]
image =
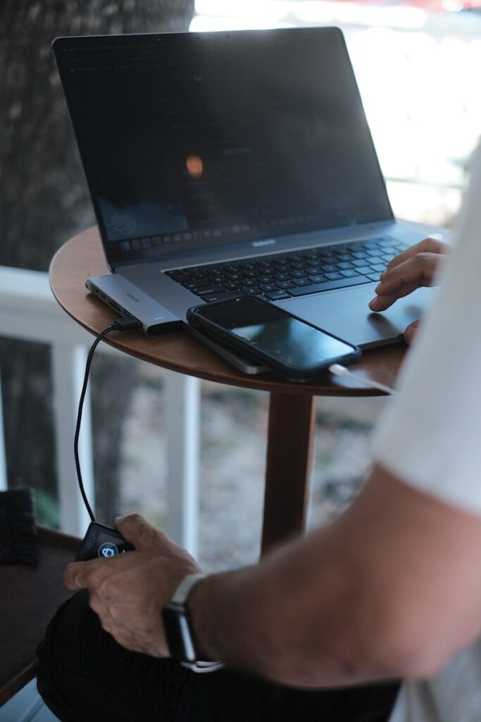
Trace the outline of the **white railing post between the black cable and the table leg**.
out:
[[[167,525],[178,544],[197,556],[200,380],[165,372]]]

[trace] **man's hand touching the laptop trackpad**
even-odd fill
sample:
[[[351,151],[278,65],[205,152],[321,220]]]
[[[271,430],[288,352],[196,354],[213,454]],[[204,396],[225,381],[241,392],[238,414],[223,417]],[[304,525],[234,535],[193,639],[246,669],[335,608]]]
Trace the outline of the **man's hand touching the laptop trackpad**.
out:
[[[449,253],[449,245],[441,240],[425,238],[412,245],[387,264],[376,287],[376,297],[369,303],[372,311],[384,311],[394,301],[407,296],[421,286],[432,286],[442,258]],[[405,331],[411,343],[419,321],[411,323]]]

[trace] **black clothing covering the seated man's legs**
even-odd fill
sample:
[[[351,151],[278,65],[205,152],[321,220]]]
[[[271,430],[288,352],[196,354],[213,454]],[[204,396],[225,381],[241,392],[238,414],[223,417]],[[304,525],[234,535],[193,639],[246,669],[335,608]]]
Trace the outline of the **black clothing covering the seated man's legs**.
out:
[[[38,649],[37,686],[62,722],[387,722],[399,684],[299,690],[129,652],[76,593]]]

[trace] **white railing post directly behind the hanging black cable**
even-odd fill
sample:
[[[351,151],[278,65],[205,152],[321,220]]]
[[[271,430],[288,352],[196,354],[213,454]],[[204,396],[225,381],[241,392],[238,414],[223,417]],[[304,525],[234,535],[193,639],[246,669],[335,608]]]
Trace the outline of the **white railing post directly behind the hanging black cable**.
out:
[[[79,491],[74,461],[74,435],[87,349],[74,344],[52,344],[54,418],[61,529],[84,536],[90,518]],[[87,389],[79,437],[81,475],[94,510],[94,472],[90,396]]]

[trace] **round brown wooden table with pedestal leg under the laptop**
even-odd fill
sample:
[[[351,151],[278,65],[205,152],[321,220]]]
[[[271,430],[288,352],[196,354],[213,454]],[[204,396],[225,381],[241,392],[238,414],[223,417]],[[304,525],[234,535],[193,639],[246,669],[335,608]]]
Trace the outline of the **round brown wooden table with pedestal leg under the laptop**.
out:
[[[50,264],[50,285],[61,307],[92,334],[115,318],[112,310],[87,292],[85,280],[108,272],[97,228],[76,235]],[[269,391],[268,450],[265,472],[262,553],[304,530],[316,396],[377,396],[350,380],[327,373],[312,384],[290,383],[273,373],[244,375],[193,339],[187,331],[147,339],[138,331],[112,332],[107,344],[143,361],[229,386]],[[405,347],[402,344],[363,352],[352,367],[359,375],[393,386]]]

